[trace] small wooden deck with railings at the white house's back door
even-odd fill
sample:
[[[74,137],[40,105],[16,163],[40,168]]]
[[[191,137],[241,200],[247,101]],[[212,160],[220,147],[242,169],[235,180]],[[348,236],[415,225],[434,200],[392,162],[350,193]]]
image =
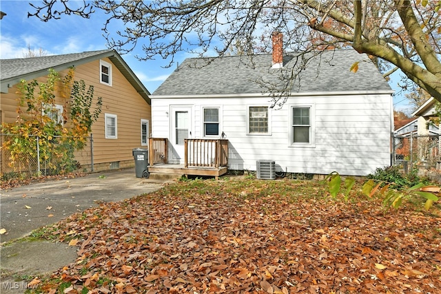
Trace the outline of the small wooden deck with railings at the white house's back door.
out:
[[[185,176],[219,176],[227,174],[228,140],[185,139],[185,163],[169,164],[167,138],[149,138],[149,173]]]

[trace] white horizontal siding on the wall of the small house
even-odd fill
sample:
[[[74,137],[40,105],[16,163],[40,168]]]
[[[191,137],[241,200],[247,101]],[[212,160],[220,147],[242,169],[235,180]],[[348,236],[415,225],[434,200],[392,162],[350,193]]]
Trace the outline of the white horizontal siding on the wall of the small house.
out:
[[[256,160],[274,160],[276,170],[301,174],[365,176],[390,165],[392,103],[389,94],[296,96],[282,109],[269,108],[269,134],[248,134],[249,106],[269,105],[262,96],[239,98],[152,98],[153,136],[169,134],[170,105],[192,101],[193,121],[203,138],[203,107],[221,107],[221,132],[229,142],[228,168],[256,170]],[[265,104],[267,103],[267,104]],[[203,105],[203,107],[201,106]],[[310,143],[293,144],[291,107],[309,107]],[[244,136],[247,134],[248,136]],[[170,147],[172,148],[172,147]]]

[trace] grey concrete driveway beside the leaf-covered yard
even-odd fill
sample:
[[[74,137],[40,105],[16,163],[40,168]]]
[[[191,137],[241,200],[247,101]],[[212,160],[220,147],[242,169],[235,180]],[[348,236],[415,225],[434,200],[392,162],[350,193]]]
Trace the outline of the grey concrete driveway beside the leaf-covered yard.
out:
[[[76,247],[54,242],[17,242],[100,202],[118,202],[160,189],[164,180],[136,178],[134,169],[102,171],[80,178],[34,182],[0,193],[0,293],[23,293],[26,282],[75,262]]]

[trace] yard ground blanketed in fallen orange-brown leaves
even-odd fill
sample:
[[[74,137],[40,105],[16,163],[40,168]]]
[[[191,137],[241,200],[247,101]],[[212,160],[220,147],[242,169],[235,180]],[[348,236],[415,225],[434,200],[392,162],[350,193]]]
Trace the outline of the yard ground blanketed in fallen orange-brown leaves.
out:
[[[79,251],[39,291],[439,293],[438,212],[316,181],[177,182],[46,227]]]

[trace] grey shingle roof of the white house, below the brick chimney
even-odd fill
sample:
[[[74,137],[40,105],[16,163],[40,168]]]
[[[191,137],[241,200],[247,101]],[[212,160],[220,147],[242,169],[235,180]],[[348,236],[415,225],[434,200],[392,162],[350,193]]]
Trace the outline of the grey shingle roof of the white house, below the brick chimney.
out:
[[[317,53],[306,55],[311,59],[292,84],[291,95],[393,92],[366,54],[358,54],[355,50]],[[262,87],[263,83],[274,83],[281,87],[286,82],[281,74],[286,76],[291,68],[298,68],[301,59],[297,56],[300,54],[285,54],[282,70],[271,68],[271,54],[185,59],[153,95],[260,94],[267,92]],[[207,64],[208,61],[211,63]],[[356,62],[360,64],[358,72],[354,73],[350,68]]]

